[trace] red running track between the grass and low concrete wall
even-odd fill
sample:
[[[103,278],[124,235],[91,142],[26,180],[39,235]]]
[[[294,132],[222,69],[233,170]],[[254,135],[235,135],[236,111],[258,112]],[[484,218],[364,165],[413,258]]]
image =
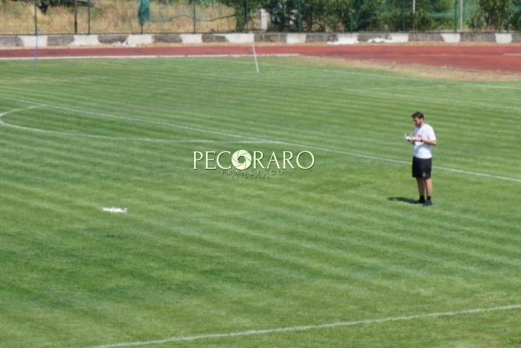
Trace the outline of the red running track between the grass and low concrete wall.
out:
[[[398,64],[521,73],[521,45],[259,45],[257,55],[307,55]],[[33,49],[0,50],[1,58],[34,58]],[[252,55],[247,45],[138,48],[41,48],[40,58]]]

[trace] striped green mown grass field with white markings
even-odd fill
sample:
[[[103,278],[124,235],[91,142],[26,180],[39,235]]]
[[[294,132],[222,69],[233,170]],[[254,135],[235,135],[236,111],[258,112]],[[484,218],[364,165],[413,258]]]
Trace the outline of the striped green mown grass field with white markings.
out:
[[[0,61],[0,346],[519,347],[521,82],[259,65]]]

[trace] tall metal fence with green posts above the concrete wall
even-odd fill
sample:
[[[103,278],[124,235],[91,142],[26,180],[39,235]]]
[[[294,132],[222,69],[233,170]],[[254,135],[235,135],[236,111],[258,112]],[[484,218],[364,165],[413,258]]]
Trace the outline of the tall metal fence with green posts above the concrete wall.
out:
[[[203,6],[193,0],[71,0],[69,6],[41,9],[36,0],[0,0],[0,35],[521,29],[521,0],[498,1],[503,7],[495,13],[486,12],[479,0],[284,0],[264,1],[269,5],[264,9],[260,0],[230,2],[234,6]]]

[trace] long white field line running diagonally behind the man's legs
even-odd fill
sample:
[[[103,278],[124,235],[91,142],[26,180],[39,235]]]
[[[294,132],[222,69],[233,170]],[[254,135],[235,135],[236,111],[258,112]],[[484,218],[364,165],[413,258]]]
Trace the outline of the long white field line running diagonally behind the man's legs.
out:
[[[340,155],[352,156],[352,157],[357,157],[357,158],[365,158],[365,159],[370,159],[370,160],[375,160],[375,161],[384,161],[384,162],[398,163],[398,164],[410,164],[410,161],[402,161],[402,160],[395,160],[392,158],[364,155],[362,153],[337,150],[334,148],[324,148],[321,146],[313,146],[313,145],[301,144],[301,143],[291,143],[291,142],[286,142],[286,141],[274,141],[272,139],[266,139],[266,138],[247,137],[247,136],[241,136],[241,135],[237,135],[237,134],[233,134],[233,133],[228,133],[225,131],[213,131],[210,129],[204,129],[204,128],[193,127],[193,126],[184,126],[181,124],[175,124],[175,123],[171,123],[171,122],[137,119],[137,118],[128,117],[128,116],[117,116],[117,115],[112,115],[112,114],[104,114],[104,113],[100,113],[100,112],[91,112],[91,111],[85,111],[85,110],[80,110],[80,109],[72,109],[69,107],[60,107],[60,106],[56,106],[56,105],[43,104],[43,103],[38,103],[38,102],[30,102],[30,101],[23,100],[23,99],[16,99],[16,98],[9,98],[9,97],[1,97],[1,98],[9,99],[9,100],[16,101],[16,102],[23,102],[26,104],[35,104],[35,106],[33,106],[33,107],[48,107],[48,108],[54,108],[54,109],[61,109],[61,110],[69,111],[69,112],[75,112],[78,114],[90,114],[90,115],[95,115],[95,116],[109,117],[109,118],[113,118],[113,119],[124,119],[126,121],[135,121],[135,122],[142,122],[142,123],[148,123],[148,124],[159,124],[161,126],[171,126],[171,127],[176,127],[176,128],[180,128],[180,129],[187,129],[190,131],[198,131],[198,132],[206,133],[206,134],[217,134],[220,136],[227,136],[227,137],[233,137],[233,138],[245,138],[244,139],[245,142],[274,143],[274,144],[281,144],[281,145],[287,145],[287,146],[309,148],[309,149],[328,152],[328,153],[338,153]],[[15,112],[15,111],[19,111],[19,110],[21,110],[21,109],[11,110],[10,112]],[[7,113],[8,112],[4,112],[4,114],[7,114]],[[0,114],[0,118],[1,118],[1,116],[4,116],[4,114]],[[0,124],[6,125],[6,126],[11,126],[9,124],[5,124],[4,122],[2,122],[1,119],[0,119]],[[24,127],[19,127],[19,128],[23,129]],[[209,142],[214,142],[214,141],[205,141],[205,142],[209,143]],[[242,142],[242,141],[235,141],[235,142]],[[215,143],[220,143],[220,141],[215,141]],[[226,141],[226,143],[228,143],[228,141]],[[452,173],[461,173],[461,174],[466,174],[466,175],[478,176],[481,178],[506,180],[506,181],[512,181],[514,183],[521,183],[521,179],[519,179],[519,178],[510,178],[510,177],[503,176],[503,175],[492,175],[492,174],[472,172],[472,171],[468,171],[468,170],[460,170],[457,168],[449,168],[449,167],[433,166],[433,168],[436,168],[439,170],[446,170],[446,171],[449,171]]]

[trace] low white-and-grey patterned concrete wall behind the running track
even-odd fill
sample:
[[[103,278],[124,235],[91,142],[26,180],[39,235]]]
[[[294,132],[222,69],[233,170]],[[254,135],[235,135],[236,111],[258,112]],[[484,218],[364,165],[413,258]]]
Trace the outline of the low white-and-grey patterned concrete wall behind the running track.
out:
[[[521,43],[521,33],[205,33],[205,34],[102,34],[39,36],[38,46],[151,45],[154,43]],[[34,47],[36,36],[0,36],[1,47]]]

